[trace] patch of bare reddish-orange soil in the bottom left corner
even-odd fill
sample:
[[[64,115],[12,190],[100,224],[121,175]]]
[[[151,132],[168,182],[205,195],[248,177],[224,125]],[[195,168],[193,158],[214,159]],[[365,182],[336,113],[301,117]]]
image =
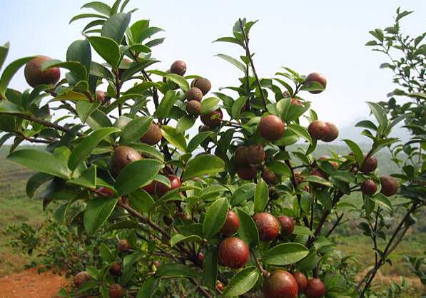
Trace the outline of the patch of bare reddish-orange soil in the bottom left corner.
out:
[[[61,287],[70,283],[65,274],[51,271],[38,274],[36,268],[0,278],[0,298],[54,298]]]

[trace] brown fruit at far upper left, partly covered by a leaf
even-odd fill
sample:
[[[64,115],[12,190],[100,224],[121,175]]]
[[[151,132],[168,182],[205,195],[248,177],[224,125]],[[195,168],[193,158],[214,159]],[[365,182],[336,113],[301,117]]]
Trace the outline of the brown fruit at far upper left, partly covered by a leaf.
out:
[[[29,86],[33,88],[39,85],[54,86],[54,84],[59,81],[61,71],[58,67],[52,67],[45,71],[41,71],[41,66],[43,66],[43,63],[48,60],[51,60],[51,58],[47,56],[39,56],[26,63],[24,76],[26,83],[28,83]]]

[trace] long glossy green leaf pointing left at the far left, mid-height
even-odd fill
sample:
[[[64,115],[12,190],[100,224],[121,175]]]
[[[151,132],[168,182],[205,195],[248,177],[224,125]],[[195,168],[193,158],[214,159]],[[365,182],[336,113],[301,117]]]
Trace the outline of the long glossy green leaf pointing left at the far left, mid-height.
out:
[[[44,151],[34,149],[17,150],[11,153],[7,159],[64,180],[69,180],[71,177],[71,171],[66,166],[66,163]]]

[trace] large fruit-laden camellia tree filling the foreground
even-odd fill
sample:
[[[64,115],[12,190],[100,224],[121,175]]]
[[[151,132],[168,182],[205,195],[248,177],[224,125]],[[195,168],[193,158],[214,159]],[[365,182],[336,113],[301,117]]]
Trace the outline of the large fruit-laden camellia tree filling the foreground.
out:
[[[374,154],[398,142],[389,134],[412,113],[390,120],[382,106],[367,103],[377,123],[358,125],[371,149],[363,153],[343,140],[348,155],[315,159],[318,142],[338,138],[338,128],[318,120],[303,99],[304,92],[325,91],[323,75],[283,68],[259,78],[249,48],[256,22],[239,19],[232,36],[216,41],[241,48],[239,59],[218,54],[242,71],[240,85],[211,92],[208,78],[185,76],[184,61],[154,68],[151,52],[163,38],[153,36],[161,29],[148,20],[132,24],[126,4],[85,4],[97,13],[71,20],[94,18],[66,61],[21,58],[0,78],[0,143],[13,140],[8,159],[38,171],[26,185],[29,197],[43,185],[44,207],[59,203],[58,220],[93,237],[115,233],[114,247],[98,247],[102,265],[81,269],[73,290],[59,295],[367,295],[425,204],[423,186],[415,186],[423,197],[407,195],[421,180],[417,172],[416,180],[376,175]],[[0,65],[8,49],[0,48]],[[93,51],[103,60],[92,61]],[[32,89],[19,92],[8,85],[22,66]],[[198,116],[203,125],[196,128]],[[24,141],[45,146],[21,149]],[[343,202],[354,192],[362,192],[360,204]],[[403,215],[391,227],[396,210]],[[361,281],[350,256],[330,240],[350,212],[376,252],[374,269]]]

